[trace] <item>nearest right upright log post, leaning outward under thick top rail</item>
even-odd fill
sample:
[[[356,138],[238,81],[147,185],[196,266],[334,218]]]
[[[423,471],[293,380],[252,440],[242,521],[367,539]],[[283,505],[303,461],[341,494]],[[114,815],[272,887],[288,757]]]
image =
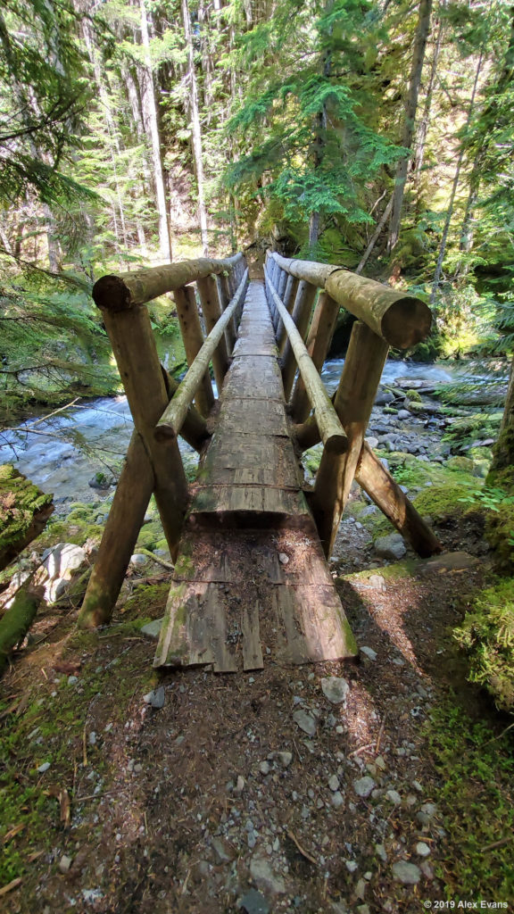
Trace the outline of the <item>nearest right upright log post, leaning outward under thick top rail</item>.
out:
[[[356,321],[334,400],[337,415],[348,435],[348,450],[342,455],[324,450],[311,505],[327,558],[348,501],[388,352],[389,344],[385,340],[373,333],[367,324]]]

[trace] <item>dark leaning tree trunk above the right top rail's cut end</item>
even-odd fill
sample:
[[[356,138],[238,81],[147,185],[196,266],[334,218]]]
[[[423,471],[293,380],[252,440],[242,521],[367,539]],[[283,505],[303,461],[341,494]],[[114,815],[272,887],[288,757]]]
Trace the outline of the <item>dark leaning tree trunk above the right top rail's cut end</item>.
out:
[[[421,0],[416,35],[414,38],[414,48],[412,53],[411,79],[409,82],[409,93],[405,102],[405,121],[403,122],[403,132],[401,145],[412,149],[412,137],[414,135],[414,124],[416,120],[416,111],[418,107],[418,95],[423,72],[424,52],[426,41],[430,30],[430,16],[432,14],[432,0]],[[400,222],[402,219],[403,196],[405,193],[405,183],[411,161],[411,153],[404,155],[398,163],[396,170],[396,180],[394,183],[394,192],[392,197],[391,225],[388,239],[388,250],[394,248],[398,241],[400,233]]]

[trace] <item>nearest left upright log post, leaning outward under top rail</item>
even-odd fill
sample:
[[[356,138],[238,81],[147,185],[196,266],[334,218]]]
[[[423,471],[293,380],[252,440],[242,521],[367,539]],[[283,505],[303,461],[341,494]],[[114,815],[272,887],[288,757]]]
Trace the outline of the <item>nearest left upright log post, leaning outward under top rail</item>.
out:
[[[158,443],[154,439],[155,424],[166,409],[168,395],[150,315],[145,305],[127,299],[126,286],[118,277],[104,277],[101,282],[96,294],[97,286],[93,289],[93,298],[102,309],[134,426],[154,470],[155,501],[169,551],[175,557],[187,507],[187,481],[177,441]],[[120,539],[125,537],[121,524],[117,532]]]

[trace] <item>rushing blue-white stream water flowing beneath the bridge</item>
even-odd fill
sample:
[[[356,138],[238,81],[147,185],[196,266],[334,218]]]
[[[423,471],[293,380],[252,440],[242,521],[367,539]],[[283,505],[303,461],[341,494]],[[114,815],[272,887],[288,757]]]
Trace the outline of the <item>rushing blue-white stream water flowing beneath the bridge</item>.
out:
[[[337,387],[343,364],[342,358],[331,359],[323,368],[322,377],[330,393]],[[479,377],[462,371],[461,363],[427,365],[388,360],[381,383],[388,385],[397,377],[408,377],[433,385],[456,377]],[[0,463],[13,463],[43,492],[55,494],[56,509],[62,513],[67,503],[102,501],[112,494],[112,488],[95,487],[96,477],[118,475],[134,426],[126,398],[120,396],[78,402],[55,415],[26,420],[22,428],[0,432]],[[179,446],[185,464],[194,465],[196,452],[182,439]]]

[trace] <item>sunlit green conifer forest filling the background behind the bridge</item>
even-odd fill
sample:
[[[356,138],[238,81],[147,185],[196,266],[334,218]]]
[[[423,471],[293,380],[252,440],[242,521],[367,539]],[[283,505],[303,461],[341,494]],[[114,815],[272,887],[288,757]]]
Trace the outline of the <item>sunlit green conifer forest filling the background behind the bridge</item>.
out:
[[[509,353],[513,64],[505,0],[6,0],[4,417],[115,388],[94,276],[249,247],[427,296],[416,357]]]

